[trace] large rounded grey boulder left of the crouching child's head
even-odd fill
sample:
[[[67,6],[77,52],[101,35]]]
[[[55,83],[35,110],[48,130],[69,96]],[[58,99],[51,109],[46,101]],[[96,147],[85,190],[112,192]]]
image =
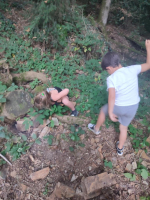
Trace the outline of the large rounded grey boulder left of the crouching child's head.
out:
[[[16,120],[18,117],[25,115],[33,107],[33,100],[28,92],[15,90],[6,95],[6,103],[2,107],[1,115]]]

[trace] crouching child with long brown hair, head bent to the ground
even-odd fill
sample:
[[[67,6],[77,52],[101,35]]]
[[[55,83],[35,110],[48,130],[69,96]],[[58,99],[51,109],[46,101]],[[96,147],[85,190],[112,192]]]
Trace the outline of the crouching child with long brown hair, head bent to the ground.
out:
[[[50,107],[51,105],[64,104],[72,110],[71,116],[78,116],[78,111],[75,109],[73,103],[69,101],[69,89],[61,89],[59,87],[47,88],[46,91],[37,95],[34,99],[34,105],[39,108]]]

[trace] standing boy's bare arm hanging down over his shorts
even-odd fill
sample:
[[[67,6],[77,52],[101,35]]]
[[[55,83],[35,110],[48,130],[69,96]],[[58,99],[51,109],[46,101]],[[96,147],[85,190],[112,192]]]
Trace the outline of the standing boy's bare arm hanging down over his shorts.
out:
[[[113,122],[117,122],[117,116],[113,114],[114,110],[114,105],[115,105],[115,88],[109,88],[108,89],[108,114],[110,119]]]

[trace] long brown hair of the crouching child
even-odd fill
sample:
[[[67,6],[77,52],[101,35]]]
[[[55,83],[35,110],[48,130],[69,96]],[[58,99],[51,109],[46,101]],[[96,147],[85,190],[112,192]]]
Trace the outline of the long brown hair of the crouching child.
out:
[[[51,95],[47,91],[41,92],[34,98],[34,106],[38,109],[49,108],[51,105]]]

